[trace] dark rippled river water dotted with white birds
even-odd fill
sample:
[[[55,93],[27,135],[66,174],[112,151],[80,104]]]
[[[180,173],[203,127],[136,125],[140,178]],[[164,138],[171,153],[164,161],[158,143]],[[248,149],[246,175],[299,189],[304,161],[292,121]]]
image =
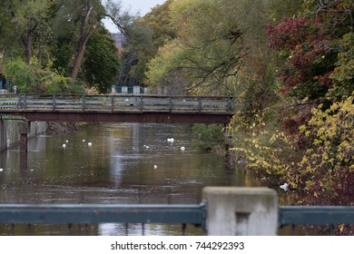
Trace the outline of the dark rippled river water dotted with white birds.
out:
[[[0,203],[198,204],[205,186],[261,185],[241,169],[227,170],[222,156],[196,151],[191,143],[192,125],[183,124],[104,123],[38,136],[29,141],[27,158],[16,148],[0,153]],[[7,234],[8,227],[0,226],[0,234]],[[140,225],[129,227],[130,234],[140,233]],[[147,235],[180,233],[180,226],[145,227]],[[63,229],[38,226],[32,234],[68,234]],[[15,230],[20,235],[28,231]],[[80,234],[82,229],[71,230]],[[89,230],[93,235],[125,233],[114,224]],[[192,227],[187,234],[202,232]]]

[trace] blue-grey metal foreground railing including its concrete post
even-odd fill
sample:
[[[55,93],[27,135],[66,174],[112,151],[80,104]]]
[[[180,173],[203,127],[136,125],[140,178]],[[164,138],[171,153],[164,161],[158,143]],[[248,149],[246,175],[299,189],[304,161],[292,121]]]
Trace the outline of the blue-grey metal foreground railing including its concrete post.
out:
[[[192,224],[202,226],[210,235],[271,235],[286,226],[291,226],[294,234],[297,225],[326,225],[328,233],[333,235],[337,225],[340,234],[354,234],[349,227],[354,224],[354,207],[278,206],[271,201],[276,196],[265,188],[206,189],[203,191],[206,202],[200,205],[0,204],[0,224],[11,224],[15,231],[15,224],[23,223],[69,227],[123,223],[127,234],[129,223],[141,223],[142,229],[147,223],[182,224],[182,234],[186,225]],[[223,195],[225,199],[220,198]],[[230,195],[238,199],[230,200]]]

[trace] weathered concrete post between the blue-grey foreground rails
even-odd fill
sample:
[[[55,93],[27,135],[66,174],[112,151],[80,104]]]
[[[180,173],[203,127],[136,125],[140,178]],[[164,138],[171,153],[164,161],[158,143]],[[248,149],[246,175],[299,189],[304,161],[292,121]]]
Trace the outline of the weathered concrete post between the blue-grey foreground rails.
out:
[[[206,187],[210,236],[274,236],[278,195],[269,188]]]

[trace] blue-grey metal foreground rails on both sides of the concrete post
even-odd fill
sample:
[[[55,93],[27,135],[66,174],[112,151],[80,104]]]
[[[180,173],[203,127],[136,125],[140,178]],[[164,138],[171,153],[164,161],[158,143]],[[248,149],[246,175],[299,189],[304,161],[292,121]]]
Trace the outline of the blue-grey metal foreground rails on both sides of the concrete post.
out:
[[[207,210],[201,205],[24,205],[1,204],[0,224],[100,224],[123,223],[128,234],[129,223],[181,224],[182,235],[186,225],[206,227]],[[327,225],[329,234],[334,234],[336,225],[344,225],[344,234],[349,234],[349,225],[354,224],[354,207],[309,207],[280,206],[279,227],[296,225]],[[220,225],[221,226],[221,225]],[[143,230],[142,230],[143,234]]]

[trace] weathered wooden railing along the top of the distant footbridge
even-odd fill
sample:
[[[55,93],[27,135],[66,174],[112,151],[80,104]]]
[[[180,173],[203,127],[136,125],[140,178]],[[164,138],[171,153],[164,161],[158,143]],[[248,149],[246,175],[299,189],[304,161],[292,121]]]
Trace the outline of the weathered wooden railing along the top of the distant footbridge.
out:
[[[157,95],[0,94],[0,109],[233,112],[231,97]]]

